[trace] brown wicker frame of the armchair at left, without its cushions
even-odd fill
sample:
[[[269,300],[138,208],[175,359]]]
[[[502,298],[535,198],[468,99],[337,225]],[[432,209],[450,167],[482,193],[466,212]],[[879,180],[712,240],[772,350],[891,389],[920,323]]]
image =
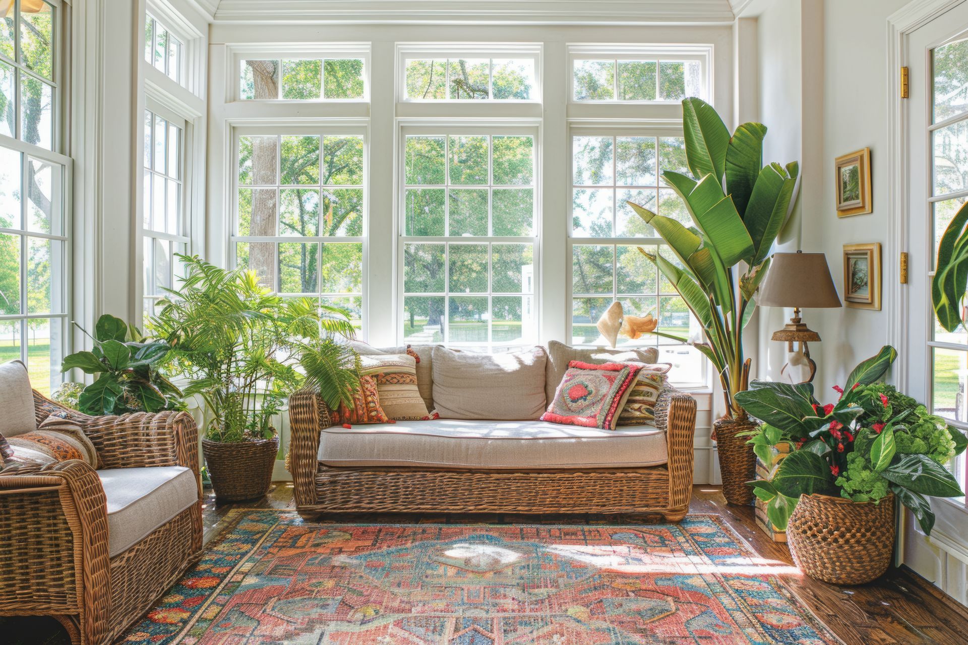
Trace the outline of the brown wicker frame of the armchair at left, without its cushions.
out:
[[[59,409],[34,392],[38,423]],[[197,427],[184,412],[88,417],[70,411],[102,468],[183,466],[196,504],[128,550],[109,556],[106,495],[83,461],[8,464],[0,470],[0,615],[49,615],[74,643],[110,643],[195,562],[201,552]]]

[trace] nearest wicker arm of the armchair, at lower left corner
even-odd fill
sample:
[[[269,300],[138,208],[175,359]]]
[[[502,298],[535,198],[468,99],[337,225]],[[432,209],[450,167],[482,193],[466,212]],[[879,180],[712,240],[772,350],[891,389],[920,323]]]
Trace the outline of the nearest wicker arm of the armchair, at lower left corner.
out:
[[[0,614],[77,615],[101,643],[111,612],[107,508],[97,473],[78,460],[0,470]]]

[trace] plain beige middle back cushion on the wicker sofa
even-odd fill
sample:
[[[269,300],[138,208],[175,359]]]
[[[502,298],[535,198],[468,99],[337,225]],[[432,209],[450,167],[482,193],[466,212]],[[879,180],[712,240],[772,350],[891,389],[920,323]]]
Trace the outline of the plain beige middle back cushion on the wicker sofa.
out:
[[[433,355],[434,404],[441,419],[526,421],[544,412],[544,347],[507,354],[434,347]]]

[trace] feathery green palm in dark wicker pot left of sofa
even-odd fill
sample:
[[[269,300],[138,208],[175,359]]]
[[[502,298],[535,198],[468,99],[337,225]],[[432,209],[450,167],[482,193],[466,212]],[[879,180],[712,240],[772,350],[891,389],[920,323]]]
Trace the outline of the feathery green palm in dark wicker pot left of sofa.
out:
[[[296,354],[352,337],[352,324],[341,308],[270,292],[255,272],[178,257],[185,278],[166,290],[150,329],[171,347],[173,370],[188,380],[185,395],[203,401],[202,453],[216,498],[260,497],[279,452],[272,418],[304,381]]]

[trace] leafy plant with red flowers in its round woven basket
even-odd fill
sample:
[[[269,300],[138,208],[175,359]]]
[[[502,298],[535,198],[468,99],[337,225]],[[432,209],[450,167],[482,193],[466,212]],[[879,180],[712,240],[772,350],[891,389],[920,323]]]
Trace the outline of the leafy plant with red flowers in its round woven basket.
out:
[[[855,367],[840,397],[821,404],[809,383],[754,381],[737,399],[762,422],[749,443],[761,458],[777,444],[793,449],[769,481],[750,482],[786,530],[796,565],[834,584],[862,584],[887,571],[895,501],[915,514],[925,535],[934,525],[929,497],[960,497],[945,468],[968,438],[881,378],[891,346]]]

